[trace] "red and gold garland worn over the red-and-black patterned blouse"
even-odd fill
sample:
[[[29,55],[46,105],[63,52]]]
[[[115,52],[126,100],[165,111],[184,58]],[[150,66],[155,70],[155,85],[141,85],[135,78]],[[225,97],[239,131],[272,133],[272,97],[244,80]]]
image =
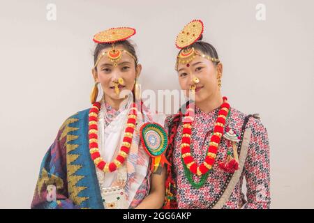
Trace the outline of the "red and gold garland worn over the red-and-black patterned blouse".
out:
[[[195,111],[194,109],[192,109],[192,107],[193,104],[188,105],[188,109],[186,110],[184,118],[184,129],[181,139],[181,157],[184,160],[184,164],[186,164],[186,167],[193,174],[197,174],[197,176],[202,176],[212,168],[216,160],[218,146],[220,144],[221,137],[223,137],[225,120],[227,119],[227,115],[230,111],[230,105],[227,103],[227,98],[223,97],[223,105],[220,106],[220,111],[218,112],[218,118],[216,119],[216,123],[214,125],[214,133],[211,136],[211,140],[209,142],[207,155],[204,162],[200,164],[200,166],[198,166],[194,162],[194,159],[190,154],[190,135],[192,132],[192,122],[195,116]]]

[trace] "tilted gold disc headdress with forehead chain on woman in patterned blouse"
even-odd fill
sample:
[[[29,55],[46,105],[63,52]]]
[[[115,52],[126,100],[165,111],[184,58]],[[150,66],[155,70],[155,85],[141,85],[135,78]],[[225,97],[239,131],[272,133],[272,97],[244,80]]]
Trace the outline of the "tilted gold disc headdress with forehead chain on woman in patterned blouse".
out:
[[[190,61],[193,61],[195,55],[202,56],[213,62],[219,62],[219,59],[213,58],[209,55],[197,52],[194,47],[188,47],[199,40],[204,31],[204,24],[201,20],[193,20],[184,26],[184,29],[180,31],[176,39],[176,46],[182,49],[177,56],[176,70],[178,70],[179,63],[189,66]]]

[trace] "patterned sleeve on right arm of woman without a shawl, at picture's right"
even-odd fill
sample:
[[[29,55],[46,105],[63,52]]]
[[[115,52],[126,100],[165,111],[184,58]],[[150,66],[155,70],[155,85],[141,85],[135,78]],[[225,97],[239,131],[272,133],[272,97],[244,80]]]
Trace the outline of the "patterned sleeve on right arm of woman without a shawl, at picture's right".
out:
[[[244,164],[249,208],[270,207],[270,167],[269,167],[269,140],[267,130],[262,123],[251,118],[248,123],[252,130],[251,141],[248,147],[248,155]]]

